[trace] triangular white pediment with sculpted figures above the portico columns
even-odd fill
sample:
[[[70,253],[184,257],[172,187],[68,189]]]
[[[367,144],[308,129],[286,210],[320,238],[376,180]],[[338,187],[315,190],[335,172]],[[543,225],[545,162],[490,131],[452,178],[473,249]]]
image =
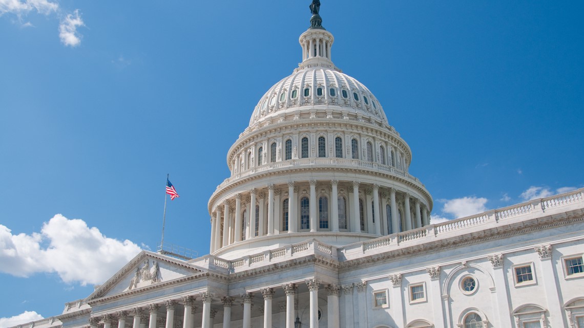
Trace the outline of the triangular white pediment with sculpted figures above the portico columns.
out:
[[[185,261],[143,250],[89,295],[87,301],[130,291],[139,292],[146,287],[155,287],[202,272],[204,270]]]

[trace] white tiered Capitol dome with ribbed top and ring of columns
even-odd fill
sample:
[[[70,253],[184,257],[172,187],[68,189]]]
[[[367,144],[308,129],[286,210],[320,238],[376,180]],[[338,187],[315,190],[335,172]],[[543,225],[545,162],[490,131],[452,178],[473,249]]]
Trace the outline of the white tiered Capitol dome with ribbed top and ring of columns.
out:
[[[315,18],[316,17],[316,18]],[[208,203],[210,253],[235,259],[317,239],[363,242],[429,224],[432,197],[381,103],[331,60],[318,15],[302,62],[259,100]]]

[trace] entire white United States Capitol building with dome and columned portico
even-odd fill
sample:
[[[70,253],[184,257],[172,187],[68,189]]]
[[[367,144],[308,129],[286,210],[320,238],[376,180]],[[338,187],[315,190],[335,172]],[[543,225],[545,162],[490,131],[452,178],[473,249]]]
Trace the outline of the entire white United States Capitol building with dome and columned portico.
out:
[[[584,328],[584,189],[432,224],[411,149],[333,64],[316,2],[301,63],[227,152],[210,254],[142,251],[18,327]]]

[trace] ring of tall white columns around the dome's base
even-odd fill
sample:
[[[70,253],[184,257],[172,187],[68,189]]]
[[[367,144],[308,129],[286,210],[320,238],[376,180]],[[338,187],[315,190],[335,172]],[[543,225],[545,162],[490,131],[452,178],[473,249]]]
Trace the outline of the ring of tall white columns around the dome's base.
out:
[[[415,194],[359,181],[268,184],[215,204],[211,253],[244,239],[281,233],[359,232],[382,236],[429,224],[428,205]]]

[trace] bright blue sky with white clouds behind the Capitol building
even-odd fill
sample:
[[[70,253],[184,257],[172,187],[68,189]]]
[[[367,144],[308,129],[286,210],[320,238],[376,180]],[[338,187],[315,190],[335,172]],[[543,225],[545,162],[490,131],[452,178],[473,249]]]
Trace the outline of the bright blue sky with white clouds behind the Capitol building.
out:
[[[300,62],[309,4],[0,0],[0,327],[155,250],[166,173],[165,240],[208,252],[227,150]],[[437,222],[584,186],[583,9],[323,0],[321,16]]]

